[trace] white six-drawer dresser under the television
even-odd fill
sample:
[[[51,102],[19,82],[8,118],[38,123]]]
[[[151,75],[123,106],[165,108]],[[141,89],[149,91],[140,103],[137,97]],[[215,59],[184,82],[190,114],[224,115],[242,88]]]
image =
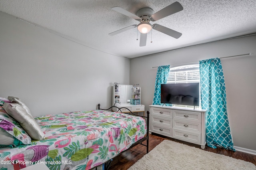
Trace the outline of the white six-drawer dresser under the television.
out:
[[[206,144],[205,109],[150,105],[150,132],[201,145]]]

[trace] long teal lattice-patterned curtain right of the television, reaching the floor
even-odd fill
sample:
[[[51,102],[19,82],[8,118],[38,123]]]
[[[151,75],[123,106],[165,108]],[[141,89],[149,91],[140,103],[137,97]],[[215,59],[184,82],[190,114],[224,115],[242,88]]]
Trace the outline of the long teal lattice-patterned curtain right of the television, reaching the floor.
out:
[[[228,123],[226,87],[219,58],[199,61],[202,109],[208,110],[206,142],[211,148],[217,145],[234,150]]]

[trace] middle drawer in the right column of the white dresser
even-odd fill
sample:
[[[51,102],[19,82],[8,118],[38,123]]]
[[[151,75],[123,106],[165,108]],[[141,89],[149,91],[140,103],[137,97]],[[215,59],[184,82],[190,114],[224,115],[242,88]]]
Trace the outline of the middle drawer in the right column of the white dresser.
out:
[[[201,123],[188,123],[183,121],[174,120],[173,128],[182,128],[184,130],[194,130],[201,132]]]

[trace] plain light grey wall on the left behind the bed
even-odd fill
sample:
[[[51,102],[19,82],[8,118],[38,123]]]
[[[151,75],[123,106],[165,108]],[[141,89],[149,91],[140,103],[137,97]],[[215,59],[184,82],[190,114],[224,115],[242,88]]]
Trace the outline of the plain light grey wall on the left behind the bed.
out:
[[[129,84],[128,59],[3,12],[0,23],[0,96],[19,97],[34,116],[110,107],[112,83]]]

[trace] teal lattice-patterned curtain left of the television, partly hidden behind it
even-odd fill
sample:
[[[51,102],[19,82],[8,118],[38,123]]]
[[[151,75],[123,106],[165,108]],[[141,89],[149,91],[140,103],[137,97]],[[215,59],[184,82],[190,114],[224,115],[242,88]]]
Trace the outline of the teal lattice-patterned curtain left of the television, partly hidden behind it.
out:
[[[161,105],[161,84],[166,84],[170,65],[159,66],[156,73],[155,93],[152,105]]]

